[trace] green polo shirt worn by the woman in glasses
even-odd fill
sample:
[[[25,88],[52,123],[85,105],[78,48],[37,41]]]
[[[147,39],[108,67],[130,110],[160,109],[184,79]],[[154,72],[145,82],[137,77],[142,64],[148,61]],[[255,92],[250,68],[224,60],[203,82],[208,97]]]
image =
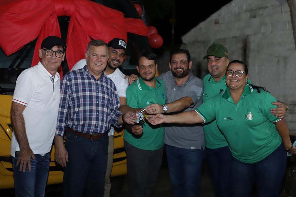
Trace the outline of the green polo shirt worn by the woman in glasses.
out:
[[[256,163],[282,143],[274,124],[280,119],[270,113],[271,108],[276,108],[272,102],[277,101],[268,92],[258,93],[246,86],[236,105],[227,88],[195,111],[206,123],[216,119],[233,157],[245,163]]]

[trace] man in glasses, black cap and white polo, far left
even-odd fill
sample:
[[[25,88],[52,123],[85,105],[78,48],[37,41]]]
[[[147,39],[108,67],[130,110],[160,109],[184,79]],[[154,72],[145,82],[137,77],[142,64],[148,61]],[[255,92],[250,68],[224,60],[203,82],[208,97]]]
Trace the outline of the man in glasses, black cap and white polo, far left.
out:
[[[44,196],[60,104],[57,69],[65,50],[61,38],[45,38],[39,49],[41,62],[24,70],[16,81],[10,149],[16,196]]]

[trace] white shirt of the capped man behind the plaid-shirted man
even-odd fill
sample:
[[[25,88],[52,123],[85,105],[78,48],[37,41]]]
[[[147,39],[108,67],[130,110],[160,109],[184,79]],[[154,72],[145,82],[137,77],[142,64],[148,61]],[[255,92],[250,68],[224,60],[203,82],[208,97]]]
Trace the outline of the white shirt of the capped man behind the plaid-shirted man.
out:
[[[85,59],[80,59],[71,70],[78,70],[83,68],[86,65],[86,60]],[[115,71],[112,74],[106,75],[109,77],[115,84],[117,93],[119,97],[124,97],[126,98],[125,90],[129,86],[129,80],[125,78],[125,74],[123,74],[119,68],[115,69]],[[114,135],[114,128],[111,127],[110,131],[108,132],[108,135]]]

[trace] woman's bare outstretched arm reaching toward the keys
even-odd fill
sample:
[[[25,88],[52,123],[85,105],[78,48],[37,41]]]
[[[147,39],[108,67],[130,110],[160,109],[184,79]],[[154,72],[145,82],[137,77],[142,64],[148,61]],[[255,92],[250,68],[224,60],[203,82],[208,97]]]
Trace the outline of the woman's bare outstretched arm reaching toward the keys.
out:
[[[162,123],[194,124],[204,123],[204,119],[196,111],[185,111],[174,115],[149,115],[149,123],[153,125]]]

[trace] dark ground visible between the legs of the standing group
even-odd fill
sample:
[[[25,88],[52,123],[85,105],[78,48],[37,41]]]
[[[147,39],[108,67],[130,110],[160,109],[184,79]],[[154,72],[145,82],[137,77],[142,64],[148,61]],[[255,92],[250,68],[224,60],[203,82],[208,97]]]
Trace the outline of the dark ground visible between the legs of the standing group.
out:
[[[291,160],[292,159],[292,160]],[[296,156],[288,159],[286,176],[282,184],[281,197],[296,197]],[[112,188],[111,197],[128,197],[127,176],[118,176],[111,178]],[[295,191],[294,191],[295,190]],[[0,197],[13,197],[14,189],[0,190]],[[45,197],[62,196],[62,184],[48,185],[46,187]],[[253,192],[252,197],[256,196]],[[173,197],[173,188],[170,183],[169,171],[166,158],[162,160],[158,183],[152,190],[151,197]],[[213,184],[208,172],[207,163],[204,161],[202,168],[202,181],[200,185],[200,197],[215,197]]]

